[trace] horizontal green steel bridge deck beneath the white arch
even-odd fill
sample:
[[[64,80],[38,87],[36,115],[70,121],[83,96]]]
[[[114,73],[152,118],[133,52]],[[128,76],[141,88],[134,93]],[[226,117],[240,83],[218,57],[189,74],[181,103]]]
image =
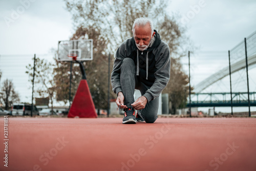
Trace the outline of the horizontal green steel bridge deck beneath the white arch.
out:
[[[256,106],[256,92],[250,92],[250,106]],[[248,93],[232,93],[232,106],[248,106]],[[193,94],[191,107],[227,107],[231,106],[230,93],[196,93]],[[189,102],[187,103],[189,107]]]

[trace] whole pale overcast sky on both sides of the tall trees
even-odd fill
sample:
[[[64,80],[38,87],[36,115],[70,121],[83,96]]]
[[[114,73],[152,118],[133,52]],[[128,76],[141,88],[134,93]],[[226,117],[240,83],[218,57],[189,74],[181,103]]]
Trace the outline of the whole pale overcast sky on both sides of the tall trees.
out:
[[[167,9],[181,16],[187,35],[201,51],[231,50],[256,31],[255,0],[176,0]],[[48,54],[58,40],[71,37],[72,23],[61,0],[0,0],[1,82],[8,77],[5,55]]]

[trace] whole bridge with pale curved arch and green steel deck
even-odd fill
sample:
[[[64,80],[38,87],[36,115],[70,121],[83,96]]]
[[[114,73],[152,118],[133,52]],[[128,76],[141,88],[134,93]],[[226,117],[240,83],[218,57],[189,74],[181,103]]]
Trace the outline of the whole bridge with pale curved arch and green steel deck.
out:
[[[238,72],[246,68],[256,67],[256,31],[247,38],[247,62],[245,58],[245,42],[241,41],[230,51],[230,73]],[[229,75],[229,66],[210,75],[194,87],[194,93],[191,94],[191,107],[211,107],[211,106],[231,106],[230,93],[201,93],[215,82]],[[248,106],[248,92],[232,92],[232,106]],[[249,92],[250,106],[256,106],[256,92]],[[187,100],[189,106],[189,100]]]

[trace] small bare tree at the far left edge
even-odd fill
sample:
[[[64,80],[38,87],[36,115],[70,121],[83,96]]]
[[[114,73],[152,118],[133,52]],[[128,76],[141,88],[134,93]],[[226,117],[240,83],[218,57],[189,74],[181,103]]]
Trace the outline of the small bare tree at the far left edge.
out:
[[[6,79],[4,81],[0,92],[0,101],[4,104],[5,110],[10,109],[13,103],[19,102],[19,95],[14,90],[12,80]]]

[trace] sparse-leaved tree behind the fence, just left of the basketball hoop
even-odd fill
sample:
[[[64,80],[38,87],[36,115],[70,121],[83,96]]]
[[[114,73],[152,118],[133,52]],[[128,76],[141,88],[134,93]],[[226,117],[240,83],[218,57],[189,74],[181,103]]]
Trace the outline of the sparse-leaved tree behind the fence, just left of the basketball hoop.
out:
[[[33,58],[34,59],[34,58]],[[29,75],[29,81],[33,81],[34,66],[29,64],[26,66],[26,73]],[[53,100],[55,92],[55,84],[53,81],[53,65],[46,59],[35,58],[35,77],[34,90],[35,95],[41,98],[49,97],[51,101],[51,108],[53,111]]]

